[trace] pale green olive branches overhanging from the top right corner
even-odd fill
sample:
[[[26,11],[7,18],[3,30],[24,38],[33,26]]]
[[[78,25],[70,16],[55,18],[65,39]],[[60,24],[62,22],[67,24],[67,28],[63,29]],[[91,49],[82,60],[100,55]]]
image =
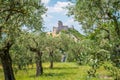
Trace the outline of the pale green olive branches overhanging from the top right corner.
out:
[[[68,8],[68,14],[75,16],[75,19],[82,24],[85,32],[104,27],[101,24],[107,22],[112,23],[111,26],[114,26],[115,33],[119,36],[119,4],[119,0],[76,0],[76,4]]]

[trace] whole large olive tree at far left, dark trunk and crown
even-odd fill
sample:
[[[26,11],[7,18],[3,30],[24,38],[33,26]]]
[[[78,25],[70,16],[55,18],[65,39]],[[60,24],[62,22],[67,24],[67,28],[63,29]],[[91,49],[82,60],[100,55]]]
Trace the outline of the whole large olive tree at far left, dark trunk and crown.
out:
[[[40,0],[0,0],[0,60],[5,80],[15,80],[9,54],[22,26],[40,30],[45,12]]]

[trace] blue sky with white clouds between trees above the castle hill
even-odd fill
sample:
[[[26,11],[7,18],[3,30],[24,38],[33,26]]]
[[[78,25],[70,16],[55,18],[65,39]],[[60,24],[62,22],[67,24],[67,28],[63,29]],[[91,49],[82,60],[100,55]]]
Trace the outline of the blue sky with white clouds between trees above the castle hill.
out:
[[[82,33],[81,25],[74,21],[73,17],[68,17],[67,10],[64,7],[68,4],[73,5],[69,0],[41,0],[47,7],[47,12],[42,17],[44,19],[45,31],[52,31],[53,26],[57,27],[58,21],[62,21],[63,25],[71,27],[72,25],[76,30]]]

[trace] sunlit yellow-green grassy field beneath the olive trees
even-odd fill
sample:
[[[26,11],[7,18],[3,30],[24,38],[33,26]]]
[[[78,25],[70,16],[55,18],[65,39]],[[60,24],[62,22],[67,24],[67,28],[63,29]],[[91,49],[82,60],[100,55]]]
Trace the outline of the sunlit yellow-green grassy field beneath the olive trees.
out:
[[[16,74],[16,80],[113,80],[107,78],[109,75],[103,68],[98,70],[98,78],[87,78],[88,66],[79,66],[76,63],[54,63],[54,68],[49,69],[49,63],[43,63],[44,74],[40,77],[35,76],[35,68],[28,70],[19,70]],[[4,80],[2,69],[0,69],[0,80]]]

